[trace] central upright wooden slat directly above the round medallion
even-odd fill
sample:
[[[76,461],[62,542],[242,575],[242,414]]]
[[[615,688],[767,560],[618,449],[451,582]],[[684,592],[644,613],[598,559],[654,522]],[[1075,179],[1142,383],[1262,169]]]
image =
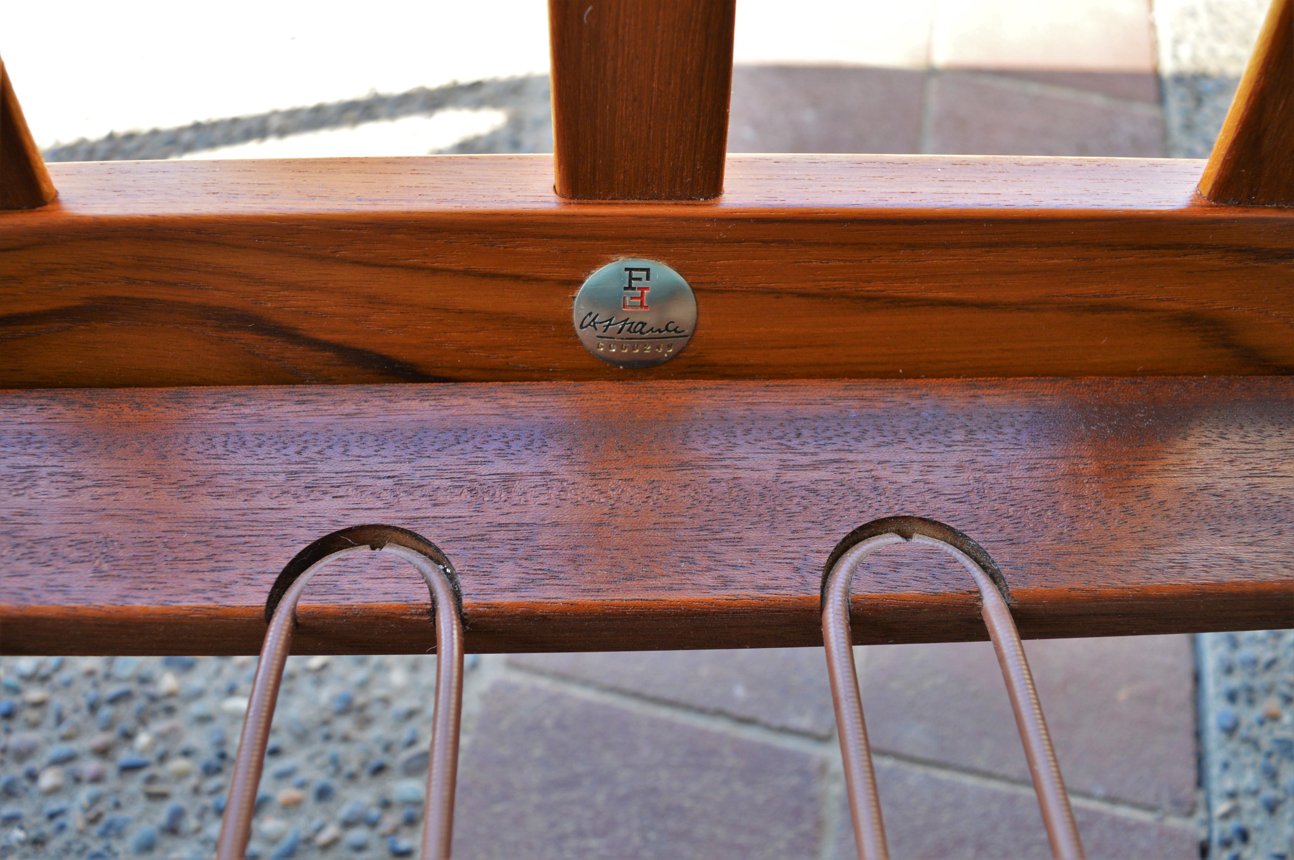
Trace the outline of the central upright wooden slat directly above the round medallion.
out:
[[[723,191],[736,0],[549,0],[556,191]]]

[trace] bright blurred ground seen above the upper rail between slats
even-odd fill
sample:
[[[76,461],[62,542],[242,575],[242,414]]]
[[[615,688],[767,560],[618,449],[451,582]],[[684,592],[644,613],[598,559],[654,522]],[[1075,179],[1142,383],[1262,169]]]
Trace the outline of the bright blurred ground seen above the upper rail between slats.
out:
[[[1203,156],[1264,5],[740,0],[730,149]],[[546,27],[542,0],[10,4],[0,56],[52,160],[546,151]]]

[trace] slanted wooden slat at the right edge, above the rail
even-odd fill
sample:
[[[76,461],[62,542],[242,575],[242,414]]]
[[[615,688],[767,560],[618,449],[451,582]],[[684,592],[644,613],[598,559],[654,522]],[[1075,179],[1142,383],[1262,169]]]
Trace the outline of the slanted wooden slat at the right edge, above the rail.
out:
[[[1218,203],[1294,206],[1294,0],[1272,0],[1200,191]]]

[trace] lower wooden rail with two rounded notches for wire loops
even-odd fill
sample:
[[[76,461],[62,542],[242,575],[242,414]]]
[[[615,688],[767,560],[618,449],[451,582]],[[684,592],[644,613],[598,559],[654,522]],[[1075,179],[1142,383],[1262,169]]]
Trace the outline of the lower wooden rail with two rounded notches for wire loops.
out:
[[[885,515],[994,556],[1025,636],[1294,623],[1294,380],[545,383],[0,396],[0,649],[255,653],[282,565],[340,526],[439,544],[475,650],[820,644],[833,546]],[[383,554],[324,573],[303,652],[421,652]],[[983,638],[895,547],[861,643]]]

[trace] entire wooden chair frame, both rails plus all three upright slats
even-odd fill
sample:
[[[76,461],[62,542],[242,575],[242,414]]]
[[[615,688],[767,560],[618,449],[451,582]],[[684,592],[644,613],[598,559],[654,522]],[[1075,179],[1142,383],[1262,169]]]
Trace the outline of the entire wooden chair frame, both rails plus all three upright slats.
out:
[[[725,160],[731,0],[586,9],[555,168],[47,172],[0,79],[0,650],[254,653],[283,547],[367,521],[454,560],[471,650],[811,645],[889,515],[976,535],[1025,636],[1294,621],[1290,0],[1207,164]],[[626,256],[697,295],[648,370],[571,327]],[[983,636],[961,573],[886,564],[857,641]],[[302,650],[432,645],[408,577],[339,582]]]

